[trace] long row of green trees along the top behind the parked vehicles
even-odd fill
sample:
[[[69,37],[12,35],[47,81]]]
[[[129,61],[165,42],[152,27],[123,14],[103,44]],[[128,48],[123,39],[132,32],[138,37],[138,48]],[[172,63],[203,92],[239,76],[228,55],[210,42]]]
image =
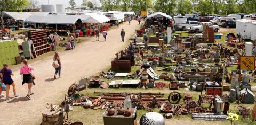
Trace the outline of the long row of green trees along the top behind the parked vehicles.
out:
[[[255,13],[256,0],[101,0],[103,11],[153,10],[182,15],[198,12],[207,14]]]

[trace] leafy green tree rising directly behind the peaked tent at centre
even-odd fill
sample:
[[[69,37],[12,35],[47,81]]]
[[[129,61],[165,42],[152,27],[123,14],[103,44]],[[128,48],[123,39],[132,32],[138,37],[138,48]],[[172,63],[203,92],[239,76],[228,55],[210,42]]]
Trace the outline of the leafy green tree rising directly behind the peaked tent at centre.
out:
[[[175,0],[156,0],[154,2],[154,10],[174,14],[175,5]]]

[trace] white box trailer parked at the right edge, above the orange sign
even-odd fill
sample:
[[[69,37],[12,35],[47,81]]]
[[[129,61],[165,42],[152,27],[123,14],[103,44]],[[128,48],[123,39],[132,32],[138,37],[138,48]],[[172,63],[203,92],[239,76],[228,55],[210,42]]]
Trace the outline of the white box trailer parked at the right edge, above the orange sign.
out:
[[[255,20],[241,19],[236,21],[236,33],[244,40],[251,39],[251,23]],[[254,29],[253,29],[254,30]]]

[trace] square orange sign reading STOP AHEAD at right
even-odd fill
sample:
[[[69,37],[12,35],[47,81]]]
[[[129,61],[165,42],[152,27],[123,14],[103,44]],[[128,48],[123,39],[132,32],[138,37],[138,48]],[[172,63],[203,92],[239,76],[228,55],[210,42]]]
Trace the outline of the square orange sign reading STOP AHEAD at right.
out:
[[[240,57],[240,69],[254,70],[255,69],[255,57],[254,56],[241,56]]]

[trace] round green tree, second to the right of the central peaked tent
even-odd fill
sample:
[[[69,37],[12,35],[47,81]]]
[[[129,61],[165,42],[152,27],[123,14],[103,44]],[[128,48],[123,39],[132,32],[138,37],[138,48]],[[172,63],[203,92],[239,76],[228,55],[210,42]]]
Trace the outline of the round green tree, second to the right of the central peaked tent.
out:
[[[195,6],[195,11],[201,15],[212,13],[212,4],[209,0],[198,0]]]

